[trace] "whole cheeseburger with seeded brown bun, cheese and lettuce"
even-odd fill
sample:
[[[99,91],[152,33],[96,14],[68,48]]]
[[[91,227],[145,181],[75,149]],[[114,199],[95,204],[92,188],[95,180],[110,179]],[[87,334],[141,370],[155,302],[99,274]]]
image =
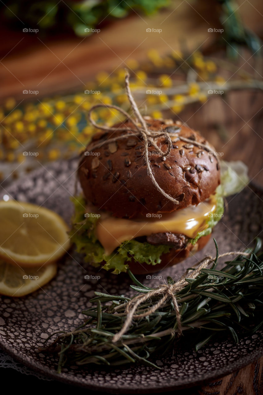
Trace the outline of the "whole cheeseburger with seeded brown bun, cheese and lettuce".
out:
[[[147,153],[127,119],[94,134],[77,172],[83,193],[74,198],[71,239],[87,262],[114,274],[154,273],[186,259],[207,244],[224,212],[214,148],[178,121],[144,120],[160,132]],[[169,141],[169,155],[160,155],[156,147],[165,152]]]

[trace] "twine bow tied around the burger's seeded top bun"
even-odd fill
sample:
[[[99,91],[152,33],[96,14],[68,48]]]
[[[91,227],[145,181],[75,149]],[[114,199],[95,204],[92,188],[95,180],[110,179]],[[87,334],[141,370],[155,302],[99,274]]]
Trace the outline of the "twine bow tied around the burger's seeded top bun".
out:
[[[144,117],[141,115],[137,104],[135,103],[135,100],[131,94],[131,90],[130,90],[130,84],[129,84],[129,78],[130,78],[130,74],[128,73],[128,70],[126,70],[126,75],[125,75],[125,88],[126,88],[126,94],[127,97],[129,99],[129,102],[131,104],[131,108],[133,109],[133,114],[135,114],[134,119],[132,118],[131,115],[129,115],[126,111],[124,111],[121,107],[118,107],[116,105],[111,105],[111,104],[104,104],[104,103],[100,103],[100,104],[96,104],[94,106],[92,106],[88,112],[88,118],[90,120],[90,123],[97,129],[100,130],[105,130],[107,132],[127,132],[126,134],[120,134],[118,136],[115,137],[111,137],[111,138],[107,138],[104,141],[98,141],[98,142],[92,142],[91,144],[88,145],[87,149],[85,151],[92,151],[96,148],[100,148],[102,145],[105,144],[109,144],[109,143],[113,143],[117,140],[120,139],[128,139],[129,137],[131,137],[131,135],[135,135],[138,137],[141,137],[143,139],[143,145],[144,145],[144,150],[143,150],[143,157],[145,159],[146,162],[146,166],[147,166],[147,173],[150,176],[150,179],[152,180],[154,186],[156,187],[156,189],[167,199],[171,200],[173,203],[178,204],[179,201],[175,198],[173,198],[170,194],[167,194],[158,184],[158,182],[156,181],[155,177],[154,177],[154,171],[152,169],[152,166],[150,164],[150,159],[149,159],[149,151],[148,151],[148,147],[150,145],[152,145],[156,151],[160,154],[160,157],[163,158],[163,160],[166,160],[166,158],[168,158],[171,155],[171,150],[173,149],[173,142],[171,140],[171,136],[176,135],[178,137],[178,139],[185,141],[186,143],[191,143],[193,145],[196,145],[197,147],[203,148],[205,150],[207,150],[208,152],[211,152],[212,155],[214,155],[216,157],[216,160],[218,161],[217,156],[215,155],[215,152],[206,144],[202,144],[202,143],[198,143],[197,141],[194,141],[192,139],[188,139],[186,137],[180,136],[180,134],[173,134],[173,133],[168,133],[167,130],[165,129],[161,129],[161,131],[156,131],[156,130],[149,130],[148,126],[147,126],[147,122],[144,119]],[[100,125],[97,124],[91,117],[92,112],[98,108],[98,107],[106,107],[106,108],[113,108],[115,110],[118,110],[120,113],[122,113],[123,115],[125,115],[126,120],[129,120],[134,128],[129,128],[127,126],[124,127],[110,127],[110,126],[105,126],[105,125]],[[165,142],[167,143],[167,149],[166,150],[162,150],[160,147],[158,147],[158,145],[156,144],[156,139],[158,139],[159,137],[165,137]],[[81,164],[83,158],[84,158],[84,153],[85,151],[82,153],[80,160],[79,160],[79,165]],[[75,190],[77,190],[77,186],[75,184]]]

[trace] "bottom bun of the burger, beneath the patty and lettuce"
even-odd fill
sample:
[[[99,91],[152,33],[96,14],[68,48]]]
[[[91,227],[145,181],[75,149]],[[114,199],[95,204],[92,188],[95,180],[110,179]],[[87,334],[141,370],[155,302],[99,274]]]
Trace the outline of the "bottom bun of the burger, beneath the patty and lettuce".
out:
[[[139,263],[137,261],[131,260],[127,262],[129,268],[133,274],[148,274],[155,273],[166,267],[176,265],[177,263],[184,261],[188,256],[195,254],[195,252],[201,250],[209,241],[211,237],[210,235],[202,236],[198,239],[195,245],[189,243],[185,248],[176,250],[175,248],[171,248],[169,252],[161,255],[161,263],[157,263],[157,265],[148,265],[147,263]]]

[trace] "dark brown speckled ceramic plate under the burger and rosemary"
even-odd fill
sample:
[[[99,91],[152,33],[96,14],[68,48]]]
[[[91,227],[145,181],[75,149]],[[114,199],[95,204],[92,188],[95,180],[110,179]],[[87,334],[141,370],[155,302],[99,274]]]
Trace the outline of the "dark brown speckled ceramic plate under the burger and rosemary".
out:
[[[14,182],[8,191],[11,198],[29,201],[53,209],[70,221],[75,169],[77,162],[49,164]],[[2,196],[4,195],[2,194]],[[2,198],[1,196],[1,198]],[[262,192],[252,186],[228,198],[228,211],[214,229],[220,253],[243,249],[252,244],[261,231],[263,221]],[[156,276],[175,277],[204,254],[214,254],[212,239],[205,249],[185,262],[170,267]],[[99,280],[85,275],[100,275]],[[146,285],[157,285],[162,279],[138,276]],[[126,274],[99,273],[83,262],[72,248],[59,264],[58,274],[47,286],[20,299],[2,297],[0,305],[0,347],[31,369],[51,378],[113,393],[152,393],[203,383],[239,369],[263,355],[263,332],[245,337],[239,344],[231,339],[211,342],[198,352],[175,350],[173,355],[154,360],[162,369],[141,365],[126,368],[75,366],[56,373],[56,360],[38,354],[36,349],[53,332],[71,330],[81,324],[81,310],[89,306],[94,291],[129,293],[130,279]]]

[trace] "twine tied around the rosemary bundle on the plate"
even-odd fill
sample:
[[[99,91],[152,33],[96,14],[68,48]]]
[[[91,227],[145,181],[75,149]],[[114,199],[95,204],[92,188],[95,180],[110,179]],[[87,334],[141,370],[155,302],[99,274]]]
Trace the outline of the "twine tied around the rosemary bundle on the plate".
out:
[[[180,277],[180,279],[177,282],[175,282],[174,284],[161,284],[158,286],[158,288],[156,288],[150,292],[147,292],[143,295],[140,294],[140,295],[135,296],[133,299],[131,299],[127,303],[126,310],[125,310],[126,319],[124,321],[124,324],[122,325],[122,329],[113,336],[112,342],[116,343],[121,339],[122,335],[124,335],[124,333],[126,333],[126,331],[128,331],[133,319],[149,316],[150,314],[154,313],[159,308],[163,307],[163,305],[165,305],[165,303],[169,299],[171,299],[171,301],[173,302],[173,307],[174,307],[175,315],[177,318],[178,336],[181,336],[182,335],[182,323],[181,323],[181,315],[180,315],[180,309],[179,309],[178,302],[177,302],[176,293],[178,291],[182,290],[186,285],[188,285],[186,278],[190,278],[190,279],[196,278],[201,273],[202,269],[207,268],[210,263],[213,263],[214,261],[216,261],[219,258],[223,258],[224,256],[229,256],[229,255],[241,255],[241,254],[243,256],[250,255],[250,253],[248,253],[248,252],[232,251],[232,252],[225,252],[224,254],[220,254],[220,255],[216,256],[215,258],[212,258],[211,256],[206,256],[200,262],[196,263],[193,266],[193,267],[195,267],[195,266],[199,265],[196,269],[194,269],[189,274],[188,274],[188,271],[186,271]],[[156,304],[154,304],[148,310],[143,311],[140,314],[136,314],[137,308],[142,303],[144,303],[148,299],[151,299],[152,297],[160,295],[160,294],[163,294],[163,297],[161,299],[159,299]],[[115,310],[118,310],[118,306],[115,308]]]

